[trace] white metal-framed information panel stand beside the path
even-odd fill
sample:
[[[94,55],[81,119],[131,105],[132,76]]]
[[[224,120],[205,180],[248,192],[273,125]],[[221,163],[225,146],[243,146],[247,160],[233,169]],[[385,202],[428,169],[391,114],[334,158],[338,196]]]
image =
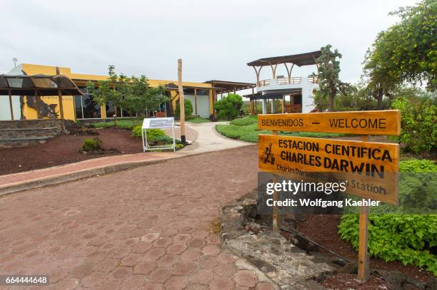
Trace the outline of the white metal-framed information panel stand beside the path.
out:
[[[147,130],[148,129],[166,129],[171,128],[171,135],[173,136],[172,145],[155,145],[151,146],[147,143]],[[174,118],[145,118],[143,125],[141,126],[141,139],[143,140],[143,151],[173,149],[176,151],[176,136],[174,133]]]

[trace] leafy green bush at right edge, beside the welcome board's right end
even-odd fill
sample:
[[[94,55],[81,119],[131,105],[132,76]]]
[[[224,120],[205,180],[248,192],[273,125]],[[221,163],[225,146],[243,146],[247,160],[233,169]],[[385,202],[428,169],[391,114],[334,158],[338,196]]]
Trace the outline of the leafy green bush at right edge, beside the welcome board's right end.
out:
[[[436,149],[437,107],[431,100],[398,98],[392,108],[401,110],[401,136],[396,140],[405,145],[404,150],[418,153]]]

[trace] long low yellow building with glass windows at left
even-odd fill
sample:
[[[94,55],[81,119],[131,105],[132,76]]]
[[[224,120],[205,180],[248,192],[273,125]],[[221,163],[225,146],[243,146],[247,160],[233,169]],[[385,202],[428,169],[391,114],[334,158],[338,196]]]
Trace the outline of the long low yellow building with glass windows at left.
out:
[[[114,112],[114,106],[111,103],[105,105],[97,105],[86,88],[86,83],[89,81],[103,81],[108,76],[96,76],[84,73],[72,73],[70,68],[59,67],[59,73],[71,78],[72,81],[79,87],[83,95],[64,95],[63,107],[64,118],[67,120],[90,120],[90,119],[106,119],[112,118],[115,114],[118,118],[131,117],[123,108],[117,108]],[[29,63],[22,63],[13,68],[8,74],[12,75],[28,75],[34,76],[39,74],[55,75],[55,66],[41,66]],[[166,87],[166,94],[171,98],[171,102],[163,105],[162,110],[166,110],[167,115],[174,114],[176,103],[179,102],[179,93],[176,86],[177,81],[164,81],[149,79],[151,87],[159,85]],[[184,82],[184,97],[191,100],[193,105],[193,115],[199,115],[203,118],[214,118],[214,102],[217,100],[218,93],[228,93],[231,91],[253,88],[252,83],[238,83],[227,81],[207,81],[204,83]],[[14,96],[13,107],[15,119],[38,119],[38,118],[55,118],[59,113],[59,98],[57,96],[41,96],[40,100],[36,101],[34,96]],[[38,113],[38,105],[45,105],[53,114],[41,115]],[[4,107],[1,103],[0,107]],[[9,106],[8,106],[9,107]],[[41,112],[41,110],[39,110]],[[0,120],[11,120],[7,116],[7,112],[0,110]],[[9,113],[10,114],[10,113]],[[10,115],[9,115],[10,116]]]

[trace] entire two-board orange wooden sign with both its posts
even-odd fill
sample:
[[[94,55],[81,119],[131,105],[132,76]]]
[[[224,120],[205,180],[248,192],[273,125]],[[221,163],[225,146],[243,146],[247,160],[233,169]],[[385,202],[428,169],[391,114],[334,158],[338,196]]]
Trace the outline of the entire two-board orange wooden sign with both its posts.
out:
[[[398,182],[390,178],[399,170],[399,145],[370,142],[370,135],[400,135],[399,110],[295,113],[258,115],[259,130],[273,135],[258,135],[258,167],[277,174],[299,172],[338,172],[353,177],[348,194],[398,204]],[[278,131],[360,134],[363,141],[279,136]],[[373,177],[371,186],[366,180]],[[358,186],[361,184],[361,186]],[[273,199],[277,199],[277,192]],[[358,279],[370,275],[368,256],[368,207],[360,207]],[[278,208],[273,206],[273,232],[279,230]]]

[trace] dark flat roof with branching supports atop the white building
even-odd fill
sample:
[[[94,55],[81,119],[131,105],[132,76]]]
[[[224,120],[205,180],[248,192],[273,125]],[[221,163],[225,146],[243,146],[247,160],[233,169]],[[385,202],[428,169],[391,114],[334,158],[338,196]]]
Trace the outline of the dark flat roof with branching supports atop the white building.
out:
[[[288,73],[288,79],[291,78],[291,71],[293,66],[311,66],[316,65],[318,70],[317,58],[321,56],[321,51],[312,51],[308,53],[292,54],[291,56],[273,56],[270,58],[259,58],[256,61],[247,63],[248,66],[253,67],[256,73],[256,83],[259,83],[259,73],[263,66],[270,66],[273,78],[276,78],[276,67],[283,63]],[[287,63],[290,64],[288,69]]]

